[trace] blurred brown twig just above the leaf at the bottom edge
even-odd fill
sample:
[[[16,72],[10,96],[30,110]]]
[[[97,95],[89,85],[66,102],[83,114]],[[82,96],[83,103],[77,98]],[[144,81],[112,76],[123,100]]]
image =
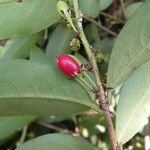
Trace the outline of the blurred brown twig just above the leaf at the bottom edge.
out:
[[[53,130],[58,131],[58,132],[62,132],[62,133],[70,134],[70,135],[74,135],[74,136],[78,136],[75,132],[72,132],[70,130],[63,129],[63,128],[60,128],[60,127],[56,127],[56,126],[54,126],[52,124],[48,124],[46,122],[38,121],[37,123],[39,125],[41,125],[41,126],[44,126],[46,128],[49,128],[49,129],[53,129]]]

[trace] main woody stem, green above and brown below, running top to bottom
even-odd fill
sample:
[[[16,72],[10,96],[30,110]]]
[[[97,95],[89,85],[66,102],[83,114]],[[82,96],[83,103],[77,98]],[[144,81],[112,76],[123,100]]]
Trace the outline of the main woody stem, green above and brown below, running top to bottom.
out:
[[[90,45],[89,45],[87,38],[84,34],[84,31],[83,31],[83,27],[82,27],[82,17],[83,16],[82,16],[82,13],[79,11],[78,0],[73,0],[73,3],[74,3],[74,8],[75,8],[75,15],[76,15],[76,21],[77,21],[79,36],[80,36],[80,39],[81,39],[81,41],[84,45],[84,48],[86,50],[89,61],[93,67],[94,76],[95,76],[96,81],[97,81],[97,87],[98,87],[97,96],[99,99],[99,107],[100,107],[100,109],[103,110],[107,124],[108,124],[108,131],[109,131],[109,136],[110,136],[110,140],[112,143],[112,149],[113,150],[119,150],[119,147],[117,144],[117,139],[116,139],[115,129],[114,129],[111,114],[109,111],[108,101],[107,101],[105,91],[104,91],[104,88],[102,86],[102,82],[100,79],[100,72],[99,72],[99,69],[97,66],[95,55],[92,52],[92,49],[90,48]]]

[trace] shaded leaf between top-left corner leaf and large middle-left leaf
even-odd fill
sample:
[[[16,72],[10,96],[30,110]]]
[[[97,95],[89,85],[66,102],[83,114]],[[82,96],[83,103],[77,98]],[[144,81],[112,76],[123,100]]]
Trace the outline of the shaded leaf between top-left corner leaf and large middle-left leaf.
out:
[[[2,58],[27,58],[30,48],[37,43],[40,34],[16,37],[8,40]]]

